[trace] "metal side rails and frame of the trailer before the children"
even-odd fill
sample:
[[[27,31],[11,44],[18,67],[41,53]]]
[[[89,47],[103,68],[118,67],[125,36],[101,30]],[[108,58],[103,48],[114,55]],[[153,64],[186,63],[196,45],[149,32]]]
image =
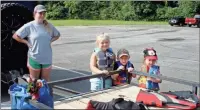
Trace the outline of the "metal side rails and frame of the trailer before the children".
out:
[[[117,72],[119,72],[119,71],[111,71],[110,75],[117,74]],[[200,96],[200,92],[199,92],[200,83],[199,82],[187,81],[187,80],[177,79],[177,78],[167,77],[167,76],[150,75],[150,74],[147,74],[147,73],[144,73],[144,72],[140,72],[140,71],[134,71],[134,74],[147,76],[147,77],[153,77],[153,78],[159,78],[159,79],[162,79],[164,81],[171,81],[171,82],[174,82],[174,83],[180,83],[180,84],[183,84],[183,85],[188,85],[188,86],[192,87],[191,91],[193,93],[195,93],[197,96]],[[57,86],[57,85],[76,82],[76,81],[87,80],[87,79],[91,79],[91,78],[103,77],[103,76],[105,76],[105,74],[88,75],[88,76],[82,76],[82,77],[75,77],[75,78],[68,78],[68,79],[62,79],[62,80],[57,80],[57,81],[51,81],[51,82],[48,82],[48,84],[51,87],[55,88],[55,89],[59,89],[60,91],[70,92],[70,93],[74,94],[73,96],[70,96],[70,97],[62,99],[62,100],[67,100],[67,101],[73,101],[77,97],[80,98],[80,96],[89,95],[89,94],[92,94],[92,93],[97,93],[97,94],[99,93],[100,94],[103,91],[107,91],[108,89],[103,89],[103,90],[101,90],[102,92],[93,91],[93,92],[87,92],[87,93],[79,93],[79,92],[76,92],[76,91],[73,91],[73,90],[70,90],[70,89],[66,89],[66,88]],[[135,85],[133,85],[133,86],[135,86]],[[117,89],[117,88],[118,87],[116,87],[115,89]],[[135,86],[135,88],[139,88],[139,87]],[[63,94],[63,96],[65,96],[65,95]],[[39,109],[50,109],[48,106],[46,106],[46,105],[44,105],[42,103],[38,103],[37,101],[34,102],[32,100],[29,100],[29,102],[36,108],[39,108]]]

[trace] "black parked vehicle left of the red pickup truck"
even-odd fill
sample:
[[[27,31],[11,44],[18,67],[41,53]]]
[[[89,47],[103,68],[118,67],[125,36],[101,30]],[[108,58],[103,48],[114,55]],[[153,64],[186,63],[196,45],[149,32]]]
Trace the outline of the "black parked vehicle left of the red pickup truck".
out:
[[[185,18],[182,17],[182,16],[173,17],[169,20],[169,24],[171,26],[174,26],[174,25],[184,26],[185,25]]]

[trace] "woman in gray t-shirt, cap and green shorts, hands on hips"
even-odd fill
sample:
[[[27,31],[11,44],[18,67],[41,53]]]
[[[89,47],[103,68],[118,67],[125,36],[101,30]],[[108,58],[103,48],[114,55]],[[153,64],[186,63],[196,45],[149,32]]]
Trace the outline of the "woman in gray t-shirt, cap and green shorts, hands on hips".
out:
[[[32,80],[41,78],[49,81],[52,66],[51,43],[60,37],[60,32],[45,18],[46,8],[37,5],[34,8],[35,20],[24,24],[13,38],[29,47],[27,66]],[[27,37],[28,40],[24,38]]]

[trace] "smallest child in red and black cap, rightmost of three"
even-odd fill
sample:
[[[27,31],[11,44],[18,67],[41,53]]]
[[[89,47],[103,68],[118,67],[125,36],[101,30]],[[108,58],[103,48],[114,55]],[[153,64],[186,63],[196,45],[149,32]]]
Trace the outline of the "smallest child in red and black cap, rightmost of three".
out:
[[[143,65],[141,66],[141,71],[149,74],[161,75],[160,67],[155,65],[158,60],[156,51],[153,48],[147,48],[143,51],[143,53],[144,61]],[[160,79],[148,78],[146,76],[140,76],[138,81],[139,87],[152,89],[155,91],[160,89],[158,83],[162,82]]]

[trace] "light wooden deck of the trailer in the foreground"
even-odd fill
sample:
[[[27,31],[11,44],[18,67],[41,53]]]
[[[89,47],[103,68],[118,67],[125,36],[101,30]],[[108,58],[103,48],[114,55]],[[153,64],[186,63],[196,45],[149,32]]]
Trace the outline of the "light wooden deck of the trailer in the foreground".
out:
[[[87,93],[84,95],[75,96],[66,100],[55,102],[55,109],[85,109],[89,100],[96,100],[101,102],[109,102],[113,98],[123,97],[125,100],[136,101],[137,94],[140,87],[134,85],[123,85],[120,87],[113,87],[111,89]],[[145,90],[145,89],[143,89]],[[157,107],[148,107],[149,109],[156,109]],[[161,108],[157,108],[161,109]]]

